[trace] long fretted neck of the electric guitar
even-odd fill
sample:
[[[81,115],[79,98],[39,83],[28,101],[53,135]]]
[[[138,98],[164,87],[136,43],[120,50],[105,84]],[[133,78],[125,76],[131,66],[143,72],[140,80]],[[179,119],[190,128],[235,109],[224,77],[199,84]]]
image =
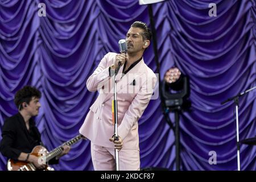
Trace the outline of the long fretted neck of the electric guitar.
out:
[[[63,146],[65,146],[65,145],[72,146],[73,144],[79,142],[79,140],[82,138],[83,138],[83,136],[81,134],[79,134],[75,138],[68,140],[68,142],[61,144],[61,146],[55,148],[54,150],[52,150],[45,156],[46,162],[48,162],[52,158],[55,158],[55,156],[61,154],[61,152],[64,150]]]

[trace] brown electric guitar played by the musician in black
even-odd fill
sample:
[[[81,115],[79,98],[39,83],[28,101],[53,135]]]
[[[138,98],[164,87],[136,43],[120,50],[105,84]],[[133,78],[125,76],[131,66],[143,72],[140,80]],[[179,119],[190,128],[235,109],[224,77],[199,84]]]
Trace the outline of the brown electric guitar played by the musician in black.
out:
[[[75,138],[68,140],[68,142],[63,143],[61,146],[53,149],[52,151],[48,152],[47,149],[43,146],[35,146],[30,153],[30,155],[35,155],[39,157],[39,163],[46,164],[46,168],[44,171],[54,171],[52,167],[48,166],[48,161],[55,156],[61,154],[63,151],[64,145],[72,146],[73,144],[79,142],[80,139],[86,139],[83,135],[79,134]],[[36,171],[36,167],[32,163],[24,162],[24,161],[17,161],[13,159],[9,159],[7,161],[7,170],[8,171]]]

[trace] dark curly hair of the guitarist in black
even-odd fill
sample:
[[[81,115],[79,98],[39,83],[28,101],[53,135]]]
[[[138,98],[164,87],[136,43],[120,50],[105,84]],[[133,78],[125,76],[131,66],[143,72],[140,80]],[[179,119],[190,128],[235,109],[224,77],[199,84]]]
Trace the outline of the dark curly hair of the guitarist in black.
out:
[[[22,89],[16,92],[14,97],[14,103],[19,110],[23,109],[22,103],[30,103],[32,97],[41,98],[41,92],[32,86],[24,86]]]

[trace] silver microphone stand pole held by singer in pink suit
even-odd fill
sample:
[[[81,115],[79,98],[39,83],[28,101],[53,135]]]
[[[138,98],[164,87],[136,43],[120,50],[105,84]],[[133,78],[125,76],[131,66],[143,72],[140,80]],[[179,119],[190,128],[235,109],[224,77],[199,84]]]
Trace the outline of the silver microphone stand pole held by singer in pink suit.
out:
[[[121,62],[118,63],[117,71],[115,71],[114,75],[114,100],[112,103],[112,108],[114,110],[114,141],[118,140],[118,130],[117,130],[117,73],[121,67]],[[115,148],[115,167],[117,171],[119,171],[119,154],[118,150]]]

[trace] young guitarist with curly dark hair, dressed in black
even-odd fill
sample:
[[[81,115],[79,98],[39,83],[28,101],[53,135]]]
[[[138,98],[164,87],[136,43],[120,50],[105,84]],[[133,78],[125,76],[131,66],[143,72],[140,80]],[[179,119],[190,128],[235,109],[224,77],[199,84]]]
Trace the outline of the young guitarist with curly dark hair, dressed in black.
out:
[[[40,97],[40,91],[32,86],[24,86],[16,92],[14,102],[19,112],[7,118],[2,127],[0,152],[7,158],[33,163],[37,169],[44,169],[46,165],[38,156],[30,155],[35,146],[42,145],[41,135],[32,119],[39,113]],[[65,145],[63,149],[59,156],[49,160],[49,164],[59,163],[59,158],[67,154],[70,147]]]

